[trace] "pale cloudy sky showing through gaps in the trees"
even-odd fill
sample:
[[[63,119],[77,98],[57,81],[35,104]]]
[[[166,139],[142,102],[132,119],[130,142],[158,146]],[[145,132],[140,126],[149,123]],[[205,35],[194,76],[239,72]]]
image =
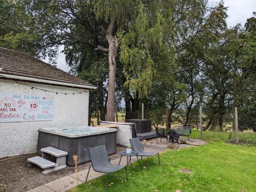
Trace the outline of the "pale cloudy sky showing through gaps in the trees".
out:
[[[208,4],[214,5],[219,1],[209,0]],[[224,0],[225,7],[228,7],[227,10],[227,25],[228,27],[236,26],[237,23],[241,23],[244,26],[246,19],[252,17],[252,12],[256,12],[256,0]],[[59,47],[59,55],[57,59],[57,67],[69,71],[70,67],[67,65],[65,60],[65,54],[61,53],[63,46]],[[45,60],[48,62],[48,59]]]

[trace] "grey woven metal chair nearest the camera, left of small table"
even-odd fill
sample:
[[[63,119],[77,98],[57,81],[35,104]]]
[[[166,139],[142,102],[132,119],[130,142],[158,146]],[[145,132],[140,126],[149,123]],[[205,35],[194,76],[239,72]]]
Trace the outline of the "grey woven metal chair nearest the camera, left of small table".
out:
[[[91,156],[91,161],[92,161],[91,166],[93,166],[93,170],[96,172],[100,172],[100,173],[106,173],[105,191],[108,186],[108,176],[119,178],[117,176],[111,175],[111,173],[117,172],[117,171],[121,170],[123,167],[125,168],[126,180],[128,180],[126,167],[121,166],[121,165],[111,164],[108,154],[106,153],[106,148],[104,145],[89,148],[89,153]],[[89,167],[89,171],[87,173],[86,182],[88,179],[88,175],[89,175],[91,166]],[[90,186],[90,187],[92,187],[92,186]],[[96,189],[96,188],[94,188],[94,189]]]

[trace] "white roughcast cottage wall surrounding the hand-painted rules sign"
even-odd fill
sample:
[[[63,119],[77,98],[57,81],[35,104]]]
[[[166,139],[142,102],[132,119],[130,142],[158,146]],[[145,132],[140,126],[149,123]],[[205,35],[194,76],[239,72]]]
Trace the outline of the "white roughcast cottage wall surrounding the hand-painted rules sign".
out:
[[[54,92],[72,93],[84,91],[82,89],[36,83],[26,84]],[[46,94],[42,90],[30,90],[30,87],[22,84],[14,86],[13,81],[3,79],[0,79],[0,92]],[[54,97],[54,118],[52,121],[0,123],[0,157],[36,152],[38,128],[88,125],[89,90],[75,95],[55,95],[55,93],[51,92],[49,95]]]

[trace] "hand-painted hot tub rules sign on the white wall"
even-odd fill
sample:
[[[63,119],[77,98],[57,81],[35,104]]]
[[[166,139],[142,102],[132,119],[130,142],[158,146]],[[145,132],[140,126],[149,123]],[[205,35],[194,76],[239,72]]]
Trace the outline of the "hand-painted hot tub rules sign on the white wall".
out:
[[[0,93],[0,123],[50,121],[53,104],[50,95]]]

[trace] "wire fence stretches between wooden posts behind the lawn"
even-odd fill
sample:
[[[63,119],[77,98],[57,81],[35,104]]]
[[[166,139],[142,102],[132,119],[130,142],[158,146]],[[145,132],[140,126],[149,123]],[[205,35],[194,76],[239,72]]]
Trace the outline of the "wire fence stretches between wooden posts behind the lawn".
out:
[[[137,114],[136,114],[137,113]],[[142,117],[141,111],[133,112],[133,118]],[[144,118],[151,119],[153,127],[166,127],[166,110],[144,110]],[[188,114],[184,109],[175,110],[169,119],[170,127],[188,125],[192,130],[191,137],[200,138],[200,113],[191,110]],[[235,119],[232,112],[212,114],[202,112],[202,138],[205,140],[239,142],[256,145],[256,117],[238,113],[238,130],[236,135]]]

